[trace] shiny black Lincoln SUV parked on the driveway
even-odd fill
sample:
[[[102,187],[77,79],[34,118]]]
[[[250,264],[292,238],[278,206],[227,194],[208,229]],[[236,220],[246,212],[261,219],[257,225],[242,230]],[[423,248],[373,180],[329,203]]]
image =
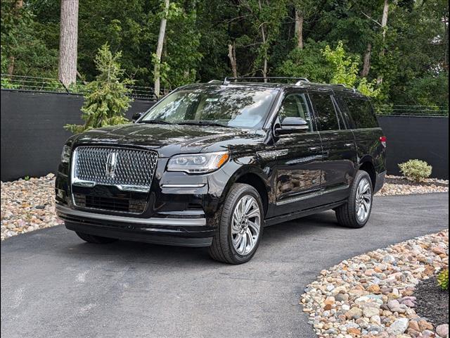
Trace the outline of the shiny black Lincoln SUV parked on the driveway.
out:
[[[133,124],[70,137],[59,217],[86,242],[208,246],[233,264],[267,225],[333,209],[363,227],[386,172],[371,102],[339,84],[274,81],[180,87]]]

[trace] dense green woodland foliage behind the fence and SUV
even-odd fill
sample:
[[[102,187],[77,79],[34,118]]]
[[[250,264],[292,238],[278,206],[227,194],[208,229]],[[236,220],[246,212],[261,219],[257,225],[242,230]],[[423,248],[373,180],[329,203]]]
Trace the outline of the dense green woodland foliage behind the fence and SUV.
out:
[[[122,51],[124,76],[152,87],[161,2],[80,1],[79,73],[87,81],[95,79],[96,51],[108,42],[112,51]],[[261,76],[266,63],[269,76],[318,82],[338,81],[333,77],[352,82],[356,77],[353,84],[346,83],[362,91],[375,88],[379,103],[448,108],[447,1],[390,1],[385,37],[380,27],[383,2],[171,0],[162,86],[173,89],[231,75],[228,46],[233,44],[241,76]],[[6,55],[2,73],[15,56],[14,74],[56,75],[59,11],[60,0],[25,0],[20,9],[13,0],[1,1],[1,51]],[[304,18],[303,49],[297,48],[295,11]],[[321,51],[330,46],[338,56],[339,41],[345,51],[340,63],[327,61]],[[363,78],[368,50],[370,63]],[[342,66],[346,72],[336,75]],[[373,87],[380,77],[383,82]],[[368,94],[373,94],[370,89]]]

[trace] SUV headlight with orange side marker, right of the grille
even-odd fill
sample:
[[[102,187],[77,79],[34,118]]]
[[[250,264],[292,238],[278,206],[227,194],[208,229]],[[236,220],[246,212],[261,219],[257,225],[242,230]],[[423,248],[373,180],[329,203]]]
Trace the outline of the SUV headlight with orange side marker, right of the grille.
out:
[[[211,173],[229,159],[226,151],[207,154],[176,155],[170,158],[167,171],[184,171],[189,174]]]

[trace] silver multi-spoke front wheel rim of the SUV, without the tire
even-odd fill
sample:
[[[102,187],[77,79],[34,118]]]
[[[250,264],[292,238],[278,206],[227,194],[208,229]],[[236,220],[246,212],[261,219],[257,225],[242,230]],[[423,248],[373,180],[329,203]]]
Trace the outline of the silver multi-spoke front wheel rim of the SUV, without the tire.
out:
[[[244,195],[236,204],[231,224],[231,239],[234,249],[246,255],[255,248],[261,227],[261,211],[255,197]]]

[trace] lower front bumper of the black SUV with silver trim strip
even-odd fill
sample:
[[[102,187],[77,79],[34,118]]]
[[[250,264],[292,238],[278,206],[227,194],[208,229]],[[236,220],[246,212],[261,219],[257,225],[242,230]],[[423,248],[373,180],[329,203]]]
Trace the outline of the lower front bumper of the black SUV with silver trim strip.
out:
[[[134,218],[74,210],[56,205],[68,230],[136,242],[210,246],[214,228],[205,218]]]

